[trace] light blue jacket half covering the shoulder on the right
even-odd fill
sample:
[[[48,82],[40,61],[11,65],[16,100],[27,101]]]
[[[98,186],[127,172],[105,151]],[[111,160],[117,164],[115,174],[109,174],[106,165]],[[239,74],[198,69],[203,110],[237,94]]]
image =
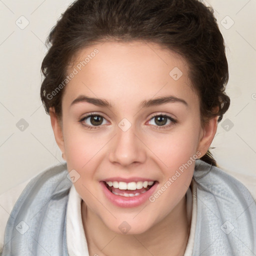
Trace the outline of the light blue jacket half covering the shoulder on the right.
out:
[[[220,168],[195,165],[197,219],[194,253],[247,255],[256,246],[256,203],[249,190]],[[245,246],[248,244],[249,247]]]

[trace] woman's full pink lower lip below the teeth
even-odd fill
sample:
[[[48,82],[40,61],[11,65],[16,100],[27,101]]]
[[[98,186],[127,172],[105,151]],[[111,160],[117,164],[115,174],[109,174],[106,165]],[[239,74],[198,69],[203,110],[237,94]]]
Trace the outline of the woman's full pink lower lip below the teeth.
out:
[[[157,186],[157,182],[155,182],[155,184],[153,186],[151,186],[150,189],[148,189],[146,192],[139,194],[139,195],[126,197],[126,196],[122,196],[122,195],[116,195],[116,194],[113,194],[112,192],[110,192],[108,190],[108,188],[105,186],[103,181],[100,181],[99,183],[103,189],[105,196],[114,205],[123,207],[123,208],[136,207],[136,206],[143,204],[144,202],[146,202],[148,200],[149,196],[154,192],[154,190],[156,189],[156,186]]]

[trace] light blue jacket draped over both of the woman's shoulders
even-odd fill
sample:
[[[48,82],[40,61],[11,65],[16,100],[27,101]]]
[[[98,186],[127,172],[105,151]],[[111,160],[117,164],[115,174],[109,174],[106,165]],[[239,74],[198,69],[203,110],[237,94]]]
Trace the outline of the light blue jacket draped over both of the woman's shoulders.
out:
[[[3,256],[66,256],[66,165],[34,177],[16,201],[4,233]],[[255,256],[256,203],[247,188],[196,160],[197,217],[193,256]]]

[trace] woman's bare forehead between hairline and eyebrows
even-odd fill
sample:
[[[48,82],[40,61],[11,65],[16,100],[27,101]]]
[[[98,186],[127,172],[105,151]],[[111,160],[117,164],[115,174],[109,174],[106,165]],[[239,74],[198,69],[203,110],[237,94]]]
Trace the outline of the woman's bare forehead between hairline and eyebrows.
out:
[[[96,43],[77,52],[67,73],[74,70],[63,95],[69,103],[80,94],[109,99],[112,105],[167,94],[196,98],[184,58],[156,43]]]

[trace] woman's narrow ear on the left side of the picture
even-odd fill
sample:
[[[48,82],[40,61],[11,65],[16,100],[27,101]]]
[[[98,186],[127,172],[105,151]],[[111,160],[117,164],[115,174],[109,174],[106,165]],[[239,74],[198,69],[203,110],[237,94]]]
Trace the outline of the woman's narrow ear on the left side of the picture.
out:
[[[62,158],[65,159],[65,147],[64,147],[64,137],[63,137],[63,131],[61,127],[61,122],[58,120],[55,109],[53,107],[49,108],[49,115],[50,115],[50,123],[51,127],[54,133],[55,140],[57,142],[57,145],[59,149],[62,152]]]

